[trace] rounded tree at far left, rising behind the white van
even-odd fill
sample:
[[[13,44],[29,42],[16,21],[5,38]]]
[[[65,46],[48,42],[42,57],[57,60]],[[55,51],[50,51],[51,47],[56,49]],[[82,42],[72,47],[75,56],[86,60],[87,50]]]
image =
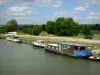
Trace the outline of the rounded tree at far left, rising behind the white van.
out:
[[[10,20],[7,22],[7,31],[16,31],[18,27],[17,21],[16,20]]]

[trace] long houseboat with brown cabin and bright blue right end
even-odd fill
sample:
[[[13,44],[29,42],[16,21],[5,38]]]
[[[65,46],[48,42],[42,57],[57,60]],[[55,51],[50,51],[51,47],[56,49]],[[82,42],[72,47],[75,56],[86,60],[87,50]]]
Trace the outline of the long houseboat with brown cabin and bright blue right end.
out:
[[[70,56],[74,58],[89,58],[92,52],[88,50],[90,45],[76,43],[58,43],[49,44],[45,47],[45,51]]]

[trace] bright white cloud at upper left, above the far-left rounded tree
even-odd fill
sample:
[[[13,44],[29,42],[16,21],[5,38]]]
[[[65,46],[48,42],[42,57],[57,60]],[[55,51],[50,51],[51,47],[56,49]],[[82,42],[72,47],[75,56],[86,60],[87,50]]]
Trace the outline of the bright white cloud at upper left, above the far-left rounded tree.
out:
[[[29,7],[21,7],[21,6],[15,6],[8,8],[8,15],[9,16],[30,16],[35,15],[37,12],[32,12],[32,10]]]

